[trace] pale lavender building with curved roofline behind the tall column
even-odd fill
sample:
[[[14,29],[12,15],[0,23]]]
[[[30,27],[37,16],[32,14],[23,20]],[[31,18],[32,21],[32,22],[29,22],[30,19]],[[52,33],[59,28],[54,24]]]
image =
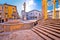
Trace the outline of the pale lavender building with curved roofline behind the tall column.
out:
[[[22,14],[22,19],[24,19],[24,14],[26,14],[27,20],[39,20],[42,18],[41,12],[38,10],[32,10],[25,13],[24,11],[22,11],[21,14]]]

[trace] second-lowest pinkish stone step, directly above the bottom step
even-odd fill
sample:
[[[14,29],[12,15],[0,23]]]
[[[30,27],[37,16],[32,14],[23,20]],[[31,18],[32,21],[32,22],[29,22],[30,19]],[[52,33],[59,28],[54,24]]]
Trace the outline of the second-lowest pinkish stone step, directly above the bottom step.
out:
[[[37,32],[44,34],[45,36],[47,36],[48,38],[50,38],[50,39],[52,39],[52,40],[57,40],[57,39],[59,40],[58,37],[50,34],[50,32],[48,32],[48,31],[45,31],[45,30],[43,30],[43,29],[38,29],[38,28],[34,28],[34,29],[35,29]],[[47,39],[48,39],[48,38],[47,38]]]

